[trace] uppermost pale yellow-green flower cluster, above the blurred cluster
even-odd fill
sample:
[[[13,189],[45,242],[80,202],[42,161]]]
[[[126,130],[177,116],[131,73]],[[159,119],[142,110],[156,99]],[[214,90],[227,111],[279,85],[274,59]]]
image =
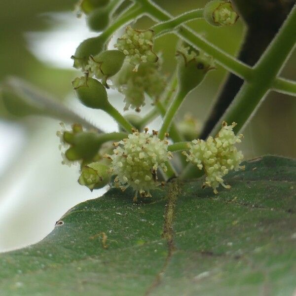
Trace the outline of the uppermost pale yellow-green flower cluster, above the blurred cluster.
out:
[[[117,39],[114,47],[122,51],[129,59],[129,62],[135,66],[137,71],[140,63],[155,63],[158,60],[157,55],[152,51],[153,31],[135,30],[128,26],[125,33]]]

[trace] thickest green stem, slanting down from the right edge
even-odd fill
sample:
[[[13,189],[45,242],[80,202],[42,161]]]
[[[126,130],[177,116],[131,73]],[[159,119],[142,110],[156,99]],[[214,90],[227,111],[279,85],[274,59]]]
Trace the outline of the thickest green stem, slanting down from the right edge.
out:
[[[294,5],[278,34],[255,65],[252,80],[243,84],[233,103],[212,130],[212,136],[219,132],[222,121],[227,123],[237,122],[235,132],[238,132],[256,111],[295,46],[295,28],[296,5]]]

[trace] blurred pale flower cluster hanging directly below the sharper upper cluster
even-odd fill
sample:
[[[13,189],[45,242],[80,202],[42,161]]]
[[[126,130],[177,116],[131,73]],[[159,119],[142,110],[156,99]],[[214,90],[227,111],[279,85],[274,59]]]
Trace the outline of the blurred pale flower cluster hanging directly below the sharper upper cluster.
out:
[[[133,66],[125,62],[121,70],[111,78],[113,86],[124,94],[125,107],[140,112],[145,106],[145,93],[157,100],[166,86],[166,79],[160,72],[159,62],[141,63],[138,71],[132,71]]]

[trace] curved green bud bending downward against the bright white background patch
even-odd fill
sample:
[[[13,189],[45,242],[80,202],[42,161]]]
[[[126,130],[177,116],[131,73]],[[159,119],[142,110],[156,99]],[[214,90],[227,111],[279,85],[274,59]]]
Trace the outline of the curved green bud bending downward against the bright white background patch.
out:
[[[88,64],[88,59],[91,55],[96,55],[104,50],[106,40],[101,36],[92,37],[82,41],[76,48],[74,55],[71,57],[74,60],[73,67],[76,69],[85,69]]]

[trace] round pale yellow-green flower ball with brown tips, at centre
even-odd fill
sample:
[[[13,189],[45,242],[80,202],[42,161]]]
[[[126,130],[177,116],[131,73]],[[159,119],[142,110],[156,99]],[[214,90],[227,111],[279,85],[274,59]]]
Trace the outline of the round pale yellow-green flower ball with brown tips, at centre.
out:
[[[114,143],[116,148],[111,158],[111,172],[116,175],[115,183],[122,190],[131,186],[136,192],[134,201],[137,200],[138,192],[144,196],[151,196],[149,190],[156,188],[160,183],[157,181],[157,169],[161,167],[167,170],[165,162],[172,154],[168,152],[168,142],[159,140],[157,133],[134,132],[127,139]]]

